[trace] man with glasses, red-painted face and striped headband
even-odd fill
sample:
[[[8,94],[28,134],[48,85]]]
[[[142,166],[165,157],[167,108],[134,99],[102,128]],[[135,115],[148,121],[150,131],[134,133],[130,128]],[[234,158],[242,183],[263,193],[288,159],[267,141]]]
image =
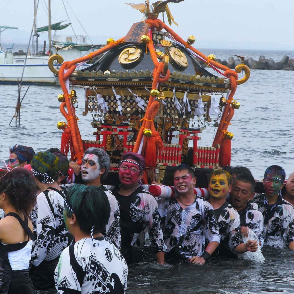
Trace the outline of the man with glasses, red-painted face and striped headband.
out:
[[[144,158],[127,152],[121,157],[118,177],[120,186],[112,190],[119,203],[121,216],[121,253],[127,263],[133,261],[133,246],[145,243],[144,229],[148,227],[149,240],[158,263],[164,264],[163,234],[155,198],[139,186],[145,168]]]

